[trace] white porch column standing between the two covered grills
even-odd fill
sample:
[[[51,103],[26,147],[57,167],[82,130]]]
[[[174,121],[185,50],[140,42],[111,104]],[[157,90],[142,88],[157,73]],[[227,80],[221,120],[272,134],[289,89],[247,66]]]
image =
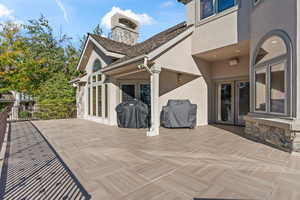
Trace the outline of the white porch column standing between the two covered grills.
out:
[[[157,65],[151,68],[151,128],[147,136],[159,135],[160,112],[159,112],[159,73],[161,68]]]

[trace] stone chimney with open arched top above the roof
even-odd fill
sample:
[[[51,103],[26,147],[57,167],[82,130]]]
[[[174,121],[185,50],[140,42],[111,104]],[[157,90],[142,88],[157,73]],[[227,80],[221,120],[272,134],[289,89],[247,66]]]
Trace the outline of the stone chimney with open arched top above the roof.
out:
[[[139,38],[139,22],[116,13],[111,18],[112,40],[123,42],[128,45],[135,45]]]

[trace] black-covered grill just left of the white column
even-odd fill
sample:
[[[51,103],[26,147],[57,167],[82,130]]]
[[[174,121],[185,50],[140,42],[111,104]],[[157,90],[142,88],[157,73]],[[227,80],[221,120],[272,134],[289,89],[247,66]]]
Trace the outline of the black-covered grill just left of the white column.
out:
[[[120,128],[147,128],[148,106],[138,100],[129,100],[116,107]]]

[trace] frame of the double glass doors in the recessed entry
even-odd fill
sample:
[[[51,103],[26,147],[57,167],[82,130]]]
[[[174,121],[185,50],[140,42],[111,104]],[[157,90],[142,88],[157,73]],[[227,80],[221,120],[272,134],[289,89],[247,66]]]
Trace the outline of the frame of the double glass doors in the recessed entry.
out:
[[[235,78],[230,78],[230,79],[219,79],[219,80],[215,80],[215,84],[214,84],[214,94],[215,94],[215,109],[214,109],[214,113],[215,113],[215,123],[219,123],[219,124],[228,124],[228,125],[235,125],[235,126],[243,126],[243,123],[240,123],[240,121],[238,120],[238,114],[239,114],[239,91],[237,88],[237,83],[239,82],[249,82],[249,77],[235,77]],[[221,102],[219,101],[219,95],[220,95],[220,84],[223,83],[230,83],[233,87],[232,90],[232,97],[231,100],[232,102],[232,117],[233,120],[229,121],[229,122],[224,122],[219,120],[219,111],[220,111],[220,105]],[[249,96],[250,96],[250,88],[249,88]],[[249,108],[250,108],[250,102],[249,102]]]

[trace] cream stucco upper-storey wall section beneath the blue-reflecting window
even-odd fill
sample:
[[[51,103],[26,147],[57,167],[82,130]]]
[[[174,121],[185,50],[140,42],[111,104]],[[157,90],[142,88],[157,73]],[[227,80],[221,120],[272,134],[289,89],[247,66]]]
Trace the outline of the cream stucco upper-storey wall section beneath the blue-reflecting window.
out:
[[[199,2],[196,1],[194,9],[196,28],[193,34],[193,55],[249,40],[249,9],[252,1],[241,0],[239,8],[226,10],[201,21]]]

